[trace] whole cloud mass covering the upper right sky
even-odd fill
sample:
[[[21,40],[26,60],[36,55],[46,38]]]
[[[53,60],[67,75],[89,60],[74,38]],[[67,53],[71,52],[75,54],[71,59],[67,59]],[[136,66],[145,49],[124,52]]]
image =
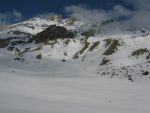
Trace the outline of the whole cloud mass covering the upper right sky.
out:
[[[72,5],[65,8],[70,17],[77,18],[87,24],[101,25],[106,20],[115,20],[105,28],[109,31],[120,31],[131,26],[150,26],[150,0],[123,0],[133,9],[116,4],[111,9],[92,9],[85,5]],[[117,29],[117,30],[116,30]]]

